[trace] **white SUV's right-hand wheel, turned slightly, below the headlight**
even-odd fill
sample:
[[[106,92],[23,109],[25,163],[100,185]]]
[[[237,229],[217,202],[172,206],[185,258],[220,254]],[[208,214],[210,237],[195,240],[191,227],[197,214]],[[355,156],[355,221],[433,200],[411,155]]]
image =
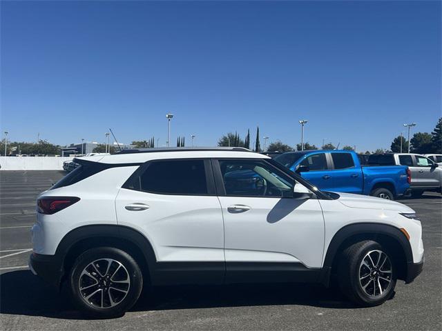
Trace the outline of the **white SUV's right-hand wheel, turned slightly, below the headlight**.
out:
[[[383,252],[388,258],[381,268],[378,267],[381,265],[384,255],[377,253],[378,251]],[[366,276],[365,274],[369,268],[367,268],[363,261],[371,264],[369,258],[367,258],[367,254],[369,253],[371,254],[370,257],[376,260],[374,264],[376,264],[376,262],[378,263],[378,267],[375,266],[376,268],[373,268],[374,270],[369,272],[369,276]],[[380,262],[377,261],[378,256],[381,257]],[[340,255],[340,261],[338,263],[340,290],[342,290],[348,299],[356,303],[356,305],[364,307],[381,305],[394,294],[396,268],[393,263],[392,255],[376,241],[366,240],[354,243],[346,248]],[[390,269],[391,272],[385,272],[387,269]],[[376,274],[378,278],[376,278]],[[385,279],[390,279],[390,283],[379,278],[380,276],[381,278],[385,277]],[[365,278],[360,280],[361,277]],[[374,277],[374,279],[372,279],[372,277]],[[374,285],[377,286],[375,287]]]

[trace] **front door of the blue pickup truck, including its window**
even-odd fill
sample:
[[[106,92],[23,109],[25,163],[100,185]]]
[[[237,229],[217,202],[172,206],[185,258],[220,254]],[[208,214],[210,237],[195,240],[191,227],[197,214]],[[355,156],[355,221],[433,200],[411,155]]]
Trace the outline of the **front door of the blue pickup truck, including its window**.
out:
[[[308,154],[298,166],[305,166],[309,171],[301,172],[302,178],[307,179],[310,183],[315,185],[320,190],[333,190],[332,183],[332,167],[327,157],[328,153],[318,152]]]

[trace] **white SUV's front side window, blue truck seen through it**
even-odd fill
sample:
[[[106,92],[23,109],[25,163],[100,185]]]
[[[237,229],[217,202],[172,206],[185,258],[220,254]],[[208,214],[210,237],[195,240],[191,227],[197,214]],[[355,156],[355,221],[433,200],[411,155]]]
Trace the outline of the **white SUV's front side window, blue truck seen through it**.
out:
[[[220,160],[219,163],[227,196],[293,196],[293,179],[265,161]]]

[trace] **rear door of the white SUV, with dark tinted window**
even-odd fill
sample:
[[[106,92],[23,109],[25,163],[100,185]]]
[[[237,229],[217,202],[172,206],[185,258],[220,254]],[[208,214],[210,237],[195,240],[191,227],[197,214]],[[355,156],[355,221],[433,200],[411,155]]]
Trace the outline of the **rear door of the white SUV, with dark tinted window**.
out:
[[[191,278],[201,272],[212,276],[208,281],[222,281],[224,228],[209,160],[144,163],[119,190],[115,208],[119,225],[151,242],[163,274]]]

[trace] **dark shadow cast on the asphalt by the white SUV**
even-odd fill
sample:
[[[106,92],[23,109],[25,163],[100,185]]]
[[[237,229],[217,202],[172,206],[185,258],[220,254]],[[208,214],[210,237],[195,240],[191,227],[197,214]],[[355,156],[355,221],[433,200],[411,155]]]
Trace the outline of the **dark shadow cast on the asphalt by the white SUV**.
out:
[[[0,313],[57,319],[85,319],[66,294],[46,285],[29,270],[0,275]],[[338,290],[307,284],[171,286],[144,290],[131,312],[253,305],[310,305],[354,308]]]

